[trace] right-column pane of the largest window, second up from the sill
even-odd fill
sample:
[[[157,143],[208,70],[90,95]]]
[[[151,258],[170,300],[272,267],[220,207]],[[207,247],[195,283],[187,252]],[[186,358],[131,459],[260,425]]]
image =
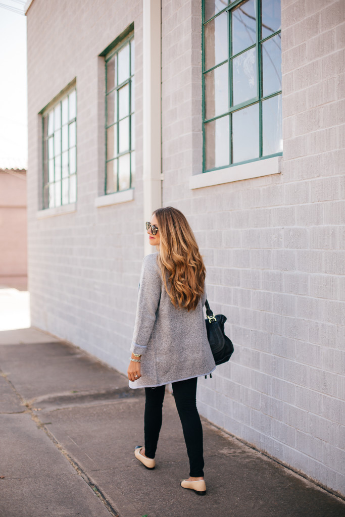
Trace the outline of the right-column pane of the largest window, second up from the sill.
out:
[[[262,43],[263,97],[281,90],[281,36],[277,34]]]

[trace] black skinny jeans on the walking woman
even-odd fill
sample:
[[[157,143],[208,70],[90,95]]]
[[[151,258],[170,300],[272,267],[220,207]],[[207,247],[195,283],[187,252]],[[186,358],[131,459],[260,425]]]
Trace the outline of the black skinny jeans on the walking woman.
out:
[[[182,423],[183,435],[189,458],[189,476],[204,475],[202,425],[197,409],[198,377],[172,383],[175,404]],[[154,458],[157,449],[159,431],[162,425],[162,407],[165,385],[156,388],[145,388],[145,456]]]

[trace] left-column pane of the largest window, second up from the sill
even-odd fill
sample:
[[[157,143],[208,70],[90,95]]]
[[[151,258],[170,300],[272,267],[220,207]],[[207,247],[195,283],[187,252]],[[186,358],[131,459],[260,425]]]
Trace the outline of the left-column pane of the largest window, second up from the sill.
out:
[[[205,74],[205,117],[229,111],[228,63]]]

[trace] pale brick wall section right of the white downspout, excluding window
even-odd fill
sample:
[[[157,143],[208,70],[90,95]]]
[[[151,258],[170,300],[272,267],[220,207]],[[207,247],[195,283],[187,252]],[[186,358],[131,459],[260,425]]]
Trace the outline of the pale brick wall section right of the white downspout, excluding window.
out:
[[[162,2],[163,202],[187,215],[208,299],[235,344],[231,361],[200,379],[199,408],[343,492],[344,3],[282,0],[282,173],[196,190],[200,5],[181,9]],[[195,29],[180,40],[182,12]]]

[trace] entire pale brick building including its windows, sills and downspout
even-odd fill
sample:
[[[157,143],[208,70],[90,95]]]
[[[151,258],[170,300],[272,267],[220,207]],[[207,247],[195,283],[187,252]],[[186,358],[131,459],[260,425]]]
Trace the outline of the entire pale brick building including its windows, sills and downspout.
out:
[[[341,493],[344,8],[26,8],[33,326],[125,373],[144,222],[181,209],[235,347],[200,413]]]

